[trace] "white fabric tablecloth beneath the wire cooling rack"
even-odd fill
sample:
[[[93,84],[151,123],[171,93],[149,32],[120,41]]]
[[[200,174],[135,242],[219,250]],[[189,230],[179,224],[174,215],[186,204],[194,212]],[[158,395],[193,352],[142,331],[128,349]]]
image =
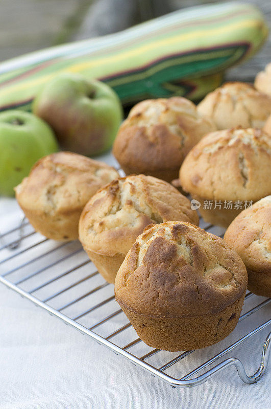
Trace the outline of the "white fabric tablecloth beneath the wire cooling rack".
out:
[[[19,215],[14,199],[0,199],[1,232],[16,225]],[[269,318],[270,307],[254,315],[249,324],[243,321],[247,332],[257,326],[257,320]],[[270,366],[252,385],[242,383],[232,367],[199,387],[173,389],[1,283],[0,331],[1,409],[271,407]],[[248,374],[259,366],[267,333],[268,329],[258,333],[233,354],[243,361]],[[188,356],[181,365],[188,365],[189,359],[193,358]]]

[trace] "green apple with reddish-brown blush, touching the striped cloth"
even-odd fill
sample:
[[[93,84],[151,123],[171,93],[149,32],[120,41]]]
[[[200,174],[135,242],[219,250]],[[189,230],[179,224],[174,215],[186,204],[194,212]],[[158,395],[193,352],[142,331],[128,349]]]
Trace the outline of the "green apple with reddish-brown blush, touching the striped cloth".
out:
[[[107,151],[122,120],[122,107],[107,84],[64,73],[45,84],[33,112],[53,128],[60,146],[87,156]]]

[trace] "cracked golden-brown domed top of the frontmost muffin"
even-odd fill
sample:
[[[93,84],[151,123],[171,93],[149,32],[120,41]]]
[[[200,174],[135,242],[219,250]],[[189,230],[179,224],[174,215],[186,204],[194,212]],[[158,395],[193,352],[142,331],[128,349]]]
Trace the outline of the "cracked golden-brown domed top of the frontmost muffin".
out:
[[[238,254],[213,234],[190,223],[147,226],[115,281],[116,300],[139,314],[178,317],[214,314],[247,288]]]

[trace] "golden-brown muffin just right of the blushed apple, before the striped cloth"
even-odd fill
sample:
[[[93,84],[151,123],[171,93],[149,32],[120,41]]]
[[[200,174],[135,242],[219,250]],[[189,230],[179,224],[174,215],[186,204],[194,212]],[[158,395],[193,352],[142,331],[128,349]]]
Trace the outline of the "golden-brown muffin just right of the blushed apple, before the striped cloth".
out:
[[[144,173],[170,182],[178,178],[192,146],[215,129],[185,98],[150,99],[131,109],[119,128],[113,154],[127,175]]]

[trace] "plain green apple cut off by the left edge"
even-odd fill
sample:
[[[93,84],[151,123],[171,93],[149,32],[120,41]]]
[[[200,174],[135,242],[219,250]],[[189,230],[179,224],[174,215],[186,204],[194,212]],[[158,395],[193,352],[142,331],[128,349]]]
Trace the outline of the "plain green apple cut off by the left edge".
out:
[[[55,135],[44,121],[18,109],[0,112],[0,194],[29,174],[37,160],[58,150]]]

